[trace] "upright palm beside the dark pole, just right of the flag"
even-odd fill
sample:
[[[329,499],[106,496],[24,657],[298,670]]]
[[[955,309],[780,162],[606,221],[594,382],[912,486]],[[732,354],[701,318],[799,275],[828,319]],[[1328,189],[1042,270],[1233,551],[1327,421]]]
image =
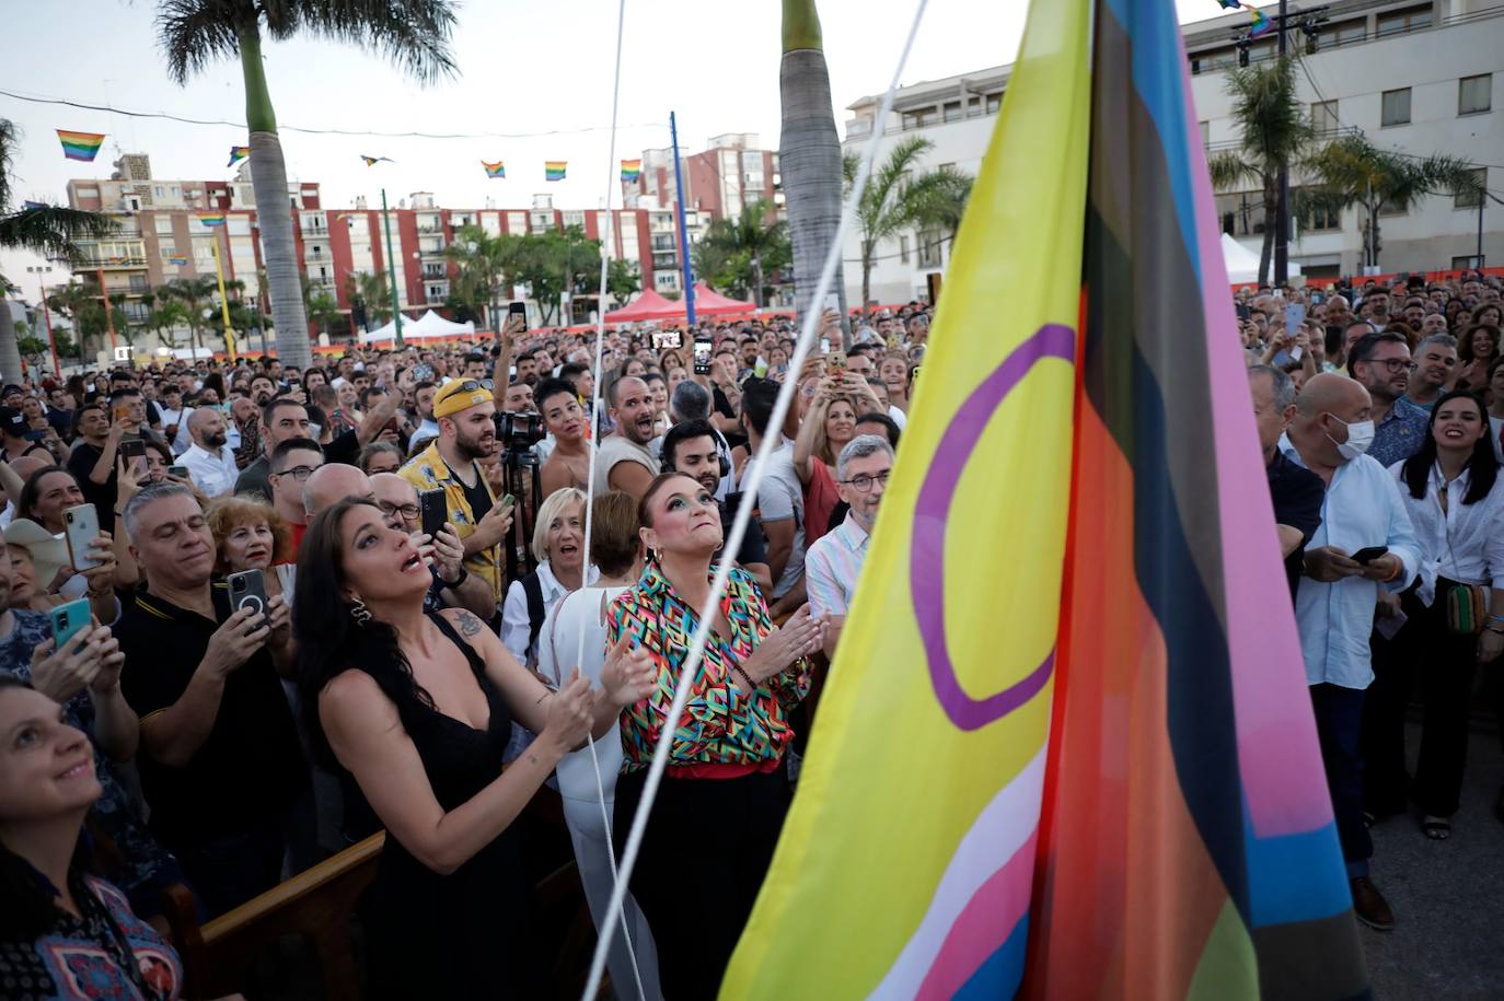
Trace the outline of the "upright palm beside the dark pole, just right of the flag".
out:
[[[1305,104],[1295,86],[1296,56],[1227,71],[1226,90],[1241,137],[1238,147],[1208,161],[1217,189],[1254,183],[1263,192],[1263,248],[1259,251],[1259,283],[1269,277],[1274,254],[1274,221],[1280,215],[1280,170],[1299,167],[1316,138]]]

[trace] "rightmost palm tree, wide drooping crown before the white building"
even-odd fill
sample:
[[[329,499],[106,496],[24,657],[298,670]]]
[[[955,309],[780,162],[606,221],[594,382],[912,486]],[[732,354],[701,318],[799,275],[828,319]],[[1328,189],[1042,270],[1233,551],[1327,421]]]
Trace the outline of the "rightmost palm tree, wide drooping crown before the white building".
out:
[[[1439,153],[1420,158],[1385,150],[1363,135],[1333,140],[1307,165],[1330,200],[1342,207],[1363,206],[1364,265],[1379,263],[1379,215],[1385,209],[1408,212],[1429,194],[1483,194],[1477,164]]]

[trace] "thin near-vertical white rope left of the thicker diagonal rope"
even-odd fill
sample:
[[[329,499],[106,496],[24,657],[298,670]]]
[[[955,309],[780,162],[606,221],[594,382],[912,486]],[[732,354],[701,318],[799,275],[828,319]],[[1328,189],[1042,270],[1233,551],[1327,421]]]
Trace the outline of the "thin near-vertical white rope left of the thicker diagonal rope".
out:
[[[627,0],[618,0],[617,3],[617,62],[612,75],[611,86],[611,140],[608,141],[606,153],[606,228],[602,233],[600,240],[600,295],[596,299],[596,364],[594,364],[594,388],[590,398],[590,413],[587,415],[585,427],[590,430],[590,448],[587,451],[590,469],[585,470],[585,567],[581,570],[581,591],[590,586],[590,538],[591,529],[594,528],[594,497],[596,497],[596,452],[600,448],[600,428],[596,427],[596,412],[600,409],[600,385],[602,379],[602,353],[606,340],[606,280],[611,274],[611,251],[615,248],[615,215],[612,212],[612,198],[615,194],[615,186],[618,183],[615,176],[617,164],[617,108],[621,102],[621,41],[626,32],[627,21]],[[566,289],[567,293],[573,295],[572,289]],[[582,628],[575,645],[575,664],[585,663],[585,630]],[[596,753],[596,736],[593,733],[585,735],[585,742],[590,745],[590,762],[596,771],[596,798],[600,803],[600,816],[606,824],[606,858],[611,860],[611,879],[612,879],[612,896],[611,905],[602,918],[603,927],[597,930],[606,941],[611,941],[612,932],[615,932],[617,921],[621,923],[621,935],[627,944],[627,957],[632,960],[632,978],[636,983],[638,999],[647,1001],[647,993],[642,990],[642,971],[638,968],[638,953],[632,945],[632,929],[627,927],[627,912],[626,912],[626,894],[620,891],[621,881],[617,873],[617,849],[612,846],[612,831],[611,831],[611,810],[606,809],[606,783],[600,776],[600,756]],[[620,986],[618,986],[620,990]]]

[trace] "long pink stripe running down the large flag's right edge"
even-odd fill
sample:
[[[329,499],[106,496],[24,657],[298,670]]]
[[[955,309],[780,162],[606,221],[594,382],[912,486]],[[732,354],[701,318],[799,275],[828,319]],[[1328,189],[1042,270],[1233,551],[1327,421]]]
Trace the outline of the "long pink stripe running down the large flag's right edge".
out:
[[[1277,837],[1330,824],[1331,800],[1316,755],[1311,715],[1302,706],[1290,705],[1292,693],[1304,696],[1305,667],[1289,603],[1269,600],[1289,585],[1278,558],[1274,510],[1262,475],[1263,461],[1253,424],[1227,268],[1221,243],[1214,239],[1218,230],[1214,222],[1212,189],[1185,59],[1181,60],[1181,77],[1185,144],[1196,186],[1196,251],[1202,272],[1203,320],[1209,338],[1206,361],[1212,383],[1238,765],[1254,834]],[[1256,482],[1248,482],[1250,469],[1259,470]]]

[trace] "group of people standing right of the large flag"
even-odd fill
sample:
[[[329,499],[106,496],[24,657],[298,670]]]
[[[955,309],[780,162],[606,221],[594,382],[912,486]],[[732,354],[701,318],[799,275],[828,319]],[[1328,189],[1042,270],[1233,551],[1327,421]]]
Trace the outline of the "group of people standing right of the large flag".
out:
[[[1499,284],[1412,275],[1236,296],[1354,911],[1381,930],[1396,918],[1369,828],[1414,804],[1426,837],[1450,837],[1478,666],[1504,651]]]

